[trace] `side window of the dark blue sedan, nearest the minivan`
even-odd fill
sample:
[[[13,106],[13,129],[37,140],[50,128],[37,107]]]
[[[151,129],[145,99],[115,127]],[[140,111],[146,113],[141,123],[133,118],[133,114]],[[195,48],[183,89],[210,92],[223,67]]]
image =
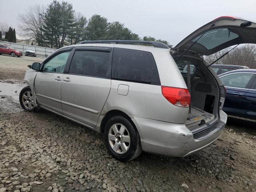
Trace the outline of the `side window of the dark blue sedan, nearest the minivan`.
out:
[[[220,80],[227,87],[245,88],[252,76],[252,73],[234,73],[220,77]]]

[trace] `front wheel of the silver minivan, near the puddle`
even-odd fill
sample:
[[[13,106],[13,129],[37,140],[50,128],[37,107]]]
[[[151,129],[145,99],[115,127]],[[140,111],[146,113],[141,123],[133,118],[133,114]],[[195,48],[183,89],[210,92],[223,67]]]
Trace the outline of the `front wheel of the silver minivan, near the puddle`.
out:
[[[38,111],[33,94],[29,86],[24,87],[20,92],[20,106],[27,111]]]

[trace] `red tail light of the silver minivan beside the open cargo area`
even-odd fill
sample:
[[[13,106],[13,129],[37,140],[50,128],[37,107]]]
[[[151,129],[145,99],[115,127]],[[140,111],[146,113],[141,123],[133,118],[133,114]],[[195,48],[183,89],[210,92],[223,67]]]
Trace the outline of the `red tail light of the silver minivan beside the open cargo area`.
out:
[[[190,94],[187,89],[162,86],[162,94],[170,103],[176,106],[190,106]]]

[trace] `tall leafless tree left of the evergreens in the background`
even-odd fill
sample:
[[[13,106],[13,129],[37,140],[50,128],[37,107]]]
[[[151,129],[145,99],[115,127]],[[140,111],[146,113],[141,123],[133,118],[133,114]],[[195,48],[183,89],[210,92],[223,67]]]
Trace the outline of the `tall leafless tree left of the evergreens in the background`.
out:
[[[19,14],[18,16],[20,35],[25,37],[26,40],[35,41],[38,46],[44,45],[44,34],[42,30],[44,14],[44,5],[35,4],[34,6],[30,6],[24,14]]]

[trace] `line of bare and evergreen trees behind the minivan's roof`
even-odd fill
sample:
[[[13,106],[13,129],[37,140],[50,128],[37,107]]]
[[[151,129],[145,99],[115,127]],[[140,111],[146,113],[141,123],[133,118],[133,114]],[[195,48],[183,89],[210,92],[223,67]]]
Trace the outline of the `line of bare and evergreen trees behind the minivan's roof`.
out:
[[[89,20],[75,12],[72,4],[54,0],[49,5],[30,6],[19,14],[21,35],[38,46],[61,48],[83,40],[152,40],[169,44],[166,40],[133,33],[124,24],[94,14]]]

